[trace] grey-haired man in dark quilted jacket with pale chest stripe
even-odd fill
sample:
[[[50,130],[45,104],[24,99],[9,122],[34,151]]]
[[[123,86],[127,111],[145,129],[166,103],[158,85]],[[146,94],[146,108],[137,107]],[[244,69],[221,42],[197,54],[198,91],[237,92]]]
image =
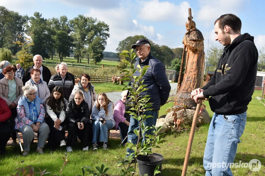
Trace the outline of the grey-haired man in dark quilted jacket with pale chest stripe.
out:
[[[69,100],[70,94],[74,88],[73,80],[67,72],[67,64],[62,62],[59,65],[59,73],[53,75],[48,83],[50,92],[55,86],[60,86],[64,90],[64,98]]]

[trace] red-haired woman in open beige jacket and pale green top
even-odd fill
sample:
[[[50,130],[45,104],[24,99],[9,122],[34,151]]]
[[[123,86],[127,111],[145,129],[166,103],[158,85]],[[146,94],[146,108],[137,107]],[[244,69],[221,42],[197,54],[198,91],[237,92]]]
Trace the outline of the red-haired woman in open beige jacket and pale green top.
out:
[[[14,77],[15,70],[11,66],[5,67],[2,73],[5,77],[0,80],[0,97],[6,101],[7,106],[11,110],[10,120],[14,124],[14,119],[17,116],[17,103],[19,98],[23,96],[23,82],[21,79]],[[17,145],[15,131],[12,132],[12,140],[12,145]]]

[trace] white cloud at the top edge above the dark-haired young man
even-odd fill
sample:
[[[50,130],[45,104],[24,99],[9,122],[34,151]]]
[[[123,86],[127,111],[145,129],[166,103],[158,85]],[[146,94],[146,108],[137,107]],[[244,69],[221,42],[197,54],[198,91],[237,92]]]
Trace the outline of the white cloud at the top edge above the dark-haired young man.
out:
[[[196,19],[203,21],[216,20],[226,13],[236,15],[244,4],[242,0],[200,0],[199,3],[201,8],[196,14]],[[209,23],[205,25],[208,26]]]

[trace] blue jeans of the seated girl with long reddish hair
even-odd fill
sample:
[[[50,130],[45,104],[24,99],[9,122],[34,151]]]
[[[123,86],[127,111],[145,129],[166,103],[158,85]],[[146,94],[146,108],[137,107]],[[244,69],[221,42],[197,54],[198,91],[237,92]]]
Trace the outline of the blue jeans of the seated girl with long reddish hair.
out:
[[[96,120],[93,124],[92,143],[98,142],[98,136],[99,136],[100,142],[107,142],[108,141],[108,130],[112,129],[112,126],[113,126],[113,123],[111,120],[106,120],[105,124],[102,124],[99,120]]]

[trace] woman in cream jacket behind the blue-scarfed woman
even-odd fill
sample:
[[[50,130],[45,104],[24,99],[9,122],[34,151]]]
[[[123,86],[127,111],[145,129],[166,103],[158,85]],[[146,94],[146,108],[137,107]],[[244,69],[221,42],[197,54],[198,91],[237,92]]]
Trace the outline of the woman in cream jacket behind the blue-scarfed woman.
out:
[[[50,97],[50,90],[48,89],[47,83],[41,79],[40,69],[30,70],[30,80],[28,80],[25,85],[31,85],[37,88],[37,95],[42,100],[43,104],[46,104],[46,99]]]

